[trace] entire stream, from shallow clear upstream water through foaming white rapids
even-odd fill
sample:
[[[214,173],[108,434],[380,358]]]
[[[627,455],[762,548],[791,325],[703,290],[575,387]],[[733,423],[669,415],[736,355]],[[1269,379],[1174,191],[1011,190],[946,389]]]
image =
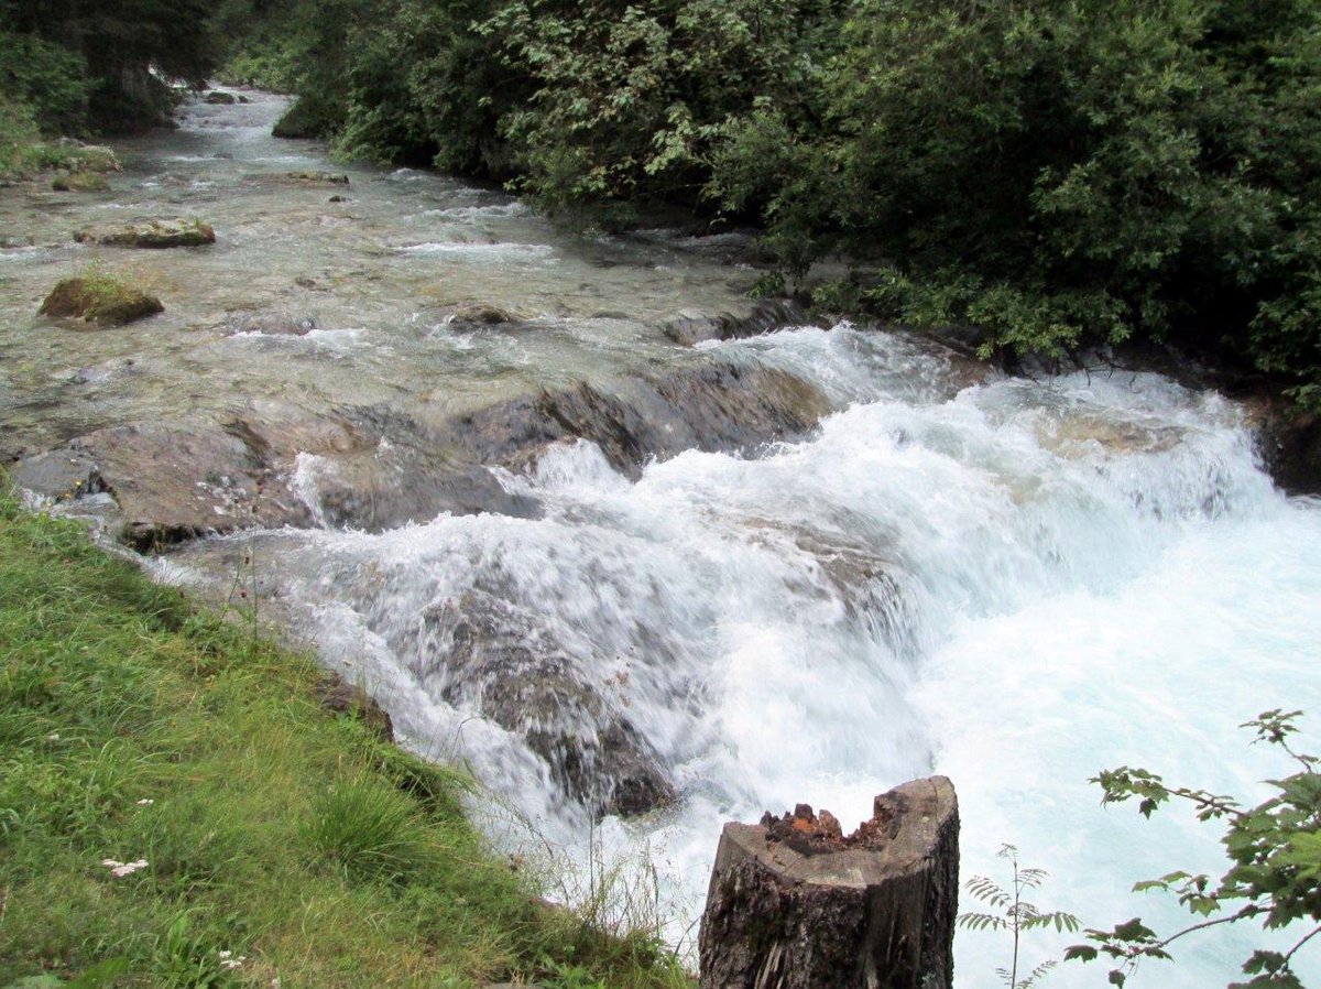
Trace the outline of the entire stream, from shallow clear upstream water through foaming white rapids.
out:
[[[108,196],[0,193],[0,234],[32,241],[0,250],[0,416],[20,452],[128,422],[345,403],[419,419],[711,361],[787,372],[828,403],[806,435],[635,471],[581,439],[493,464],[532,517],[248,530],[156,565],[176,582],[250,582],[371,689],[403,744],[472,766],[497,841],[531,833],[581,882],[592,858],[645,855],[668,936],[691,943],[724,821],[807,801],[849,829],[873,795],[941,772],[959,792],[964,878],[1004,881],[995,853],[1011,842],[1050,873],[1042,907],[1172,930],[1184,915],[1129,887],[1218,875],[1214,828],[1100,808],[1089,776],[1144,766],[1262,799],[1259,781],[1285,770],[1235,726],[1271,707],[1306,710],[1316,751],[1321,504],[1272,487],[1232,402],[1110,369],[970,377],[930,344],[848,325],[679,346],[658,327],[680,311],[746,308],[756,272],[721,238],[575,239],[509,196],[410,171],[350,168],[347,202],[330,205],[333,189],[263,181],[345,169],[269,138],[281,102],[246,97],[118,145]],[[181,213],[210,219],[218,243],[129,255],[69,241],[89,222]],[[37,317],[48,287],[94,257],[166,312],[95,333]],[[523,321],[458,328],[444,308],[466,301]],[[243,329],[269,312],[314,329]],[[313,522],[326,469],[305,455],[291,477]],[[472,612],[494,625],[474,632]],[[522,731],[483,717],[495,688],[460,682],[453,656],[495,625],[501,662],[581,697]],[[579,732],[589,773],[593,732],[620,725],[678,799],[593,824],[590,795],[567,792],[528,739]],[[1024,959],[1077,940],[1033,936]],[[1223,985],[1258,943],[1185,939],[1139,984]],[[997,985],[1007,961],[1007,941],[962,935],[956,981]],[[1096,964],[1050,976],[1103,980]]]

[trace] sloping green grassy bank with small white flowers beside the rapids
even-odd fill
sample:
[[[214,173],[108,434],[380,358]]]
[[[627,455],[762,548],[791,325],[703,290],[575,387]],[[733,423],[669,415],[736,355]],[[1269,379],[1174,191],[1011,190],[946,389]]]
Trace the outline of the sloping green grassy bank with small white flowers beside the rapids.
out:
[[[540,904],[470,780],[318,676],[0,492],[0,986],[691,984],[649,931]]]

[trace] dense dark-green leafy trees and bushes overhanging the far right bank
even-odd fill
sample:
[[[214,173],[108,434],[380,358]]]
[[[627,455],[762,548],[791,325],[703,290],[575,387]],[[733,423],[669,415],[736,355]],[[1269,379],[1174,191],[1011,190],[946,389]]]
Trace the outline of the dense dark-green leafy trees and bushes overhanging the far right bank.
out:
[[[1321,379],[1312,0],[266,5],[292,130],[345,152],[752,219],[790,276],[856,266],[823,300],[987,350],[1137,335]]]

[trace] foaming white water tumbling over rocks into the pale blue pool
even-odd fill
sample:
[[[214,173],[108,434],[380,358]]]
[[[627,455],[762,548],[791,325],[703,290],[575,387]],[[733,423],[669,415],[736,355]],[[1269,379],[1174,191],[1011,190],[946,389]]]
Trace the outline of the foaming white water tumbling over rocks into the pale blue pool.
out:
[[[439,699],[427,616],[495,595],[534,651],[572,657],[672,767],[678,807],[590,840],[608,859],[646,848],[675,939],[695,937],[723,821],[806,801],[851,826],[933,771],[959,791],[964,878],[1005,881],[995,853],[1011,842],[1050,873],[1040,906],[1177,930],[1178,908],[1129,887],[1218,875],[1215,829],[1178,808],[1103,809],[1087,777],[1144,766],[1264,797],[1285,767],[1236,726],[1271,707],[1321,717],[1321,504],[1272,488],[1235,405],[1156,376],[960,387],[943,358],[848,327],[713,349],[793,369],[839,411],[803,442],[690,451],[635,483],[588,443],[557,448],[503,479],[543,501],[539,520],[285,532],[262,551],[328,658],[367,664],[347,672],[410,744],[470,760],[581,863],[588,820],[544,764]],[[1137,984],[1223,985],[1255,937],[1186,939]],[[1078,940],[1032,935],[1024,960]],[[997,985],[1008,941],[964,933],[956,959],[960,986]],[[1104,984],[1104,968],[1071,963],[1050,984]]]

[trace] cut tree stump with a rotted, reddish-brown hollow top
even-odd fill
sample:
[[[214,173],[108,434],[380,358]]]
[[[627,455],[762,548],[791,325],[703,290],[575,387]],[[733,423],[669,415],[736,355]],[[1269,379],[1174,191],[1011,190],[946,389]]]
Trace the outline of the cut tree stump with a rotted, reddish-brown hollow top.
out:
[[[959,808],[945,776],[876,797],[851,836],[806,804],[727,824],[701,918],[701,989],[950,989]]]

